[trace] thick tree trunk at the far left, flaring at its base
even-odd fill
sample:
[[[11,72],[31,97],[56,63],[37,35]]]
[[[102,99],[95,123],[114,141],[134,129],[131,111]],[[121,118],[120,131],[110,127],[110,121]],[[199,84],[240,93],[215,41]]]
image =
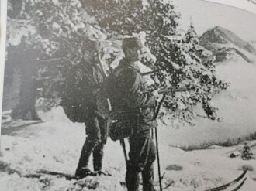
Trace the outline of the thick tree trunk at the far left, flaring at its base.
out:
[[[5,64],[12,70],[19,71],[19,97],[12,108],[12,118],[40,120],[36,112],[36,76],[38,50],[26,46],[24,40],[18,46],[9,46]],[[5,77],[12,78],[10,70],[5,70]],[[30,115],[30,117],[28,116]]]

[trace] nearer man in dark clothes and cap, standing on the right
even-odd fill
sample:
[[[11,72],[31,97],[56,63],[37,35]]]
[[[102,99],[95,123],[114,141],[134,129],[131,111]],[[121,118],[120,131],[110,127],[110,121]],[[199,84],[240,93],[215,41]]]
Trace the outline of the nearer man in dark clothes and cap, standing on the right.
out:
[[[123,39],[125,58],[119,67],[110,75],[113,80],[109,84],[109,96],[113,107],[118,105],[123,110],[118,121],[121,126],[130,126],[130,152],[126,166],[126,186],[128,191],[139,188],[139,174],[143,179],[143,190],[154,191],[153,162],[156,149],[150,136],[150,129],[156,127],[154,109],[156,98],[147,91],[145,81],[137,66],[141,44],[140,40],[131,37]],[[123,124],[122,124],[123,121]],[[128,125],[127,125],[128,124]],[[117,128],[120,129],[120,128]]]

